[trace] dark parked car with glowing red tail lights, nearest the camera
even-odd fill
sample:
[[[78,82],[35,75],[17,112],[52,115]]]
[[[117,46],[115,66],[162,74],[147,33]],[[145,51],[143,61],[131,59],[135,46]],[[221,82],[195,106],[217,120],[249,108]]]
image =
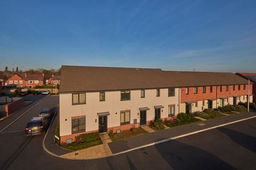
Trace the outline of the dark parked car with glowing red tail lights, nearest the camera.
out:
[[[45,117],[33,117],[28,122],[25,130],[26,136],[29,135],[37,135],[37,134],[43,134],[48,125],[49,125],[49,119]]]

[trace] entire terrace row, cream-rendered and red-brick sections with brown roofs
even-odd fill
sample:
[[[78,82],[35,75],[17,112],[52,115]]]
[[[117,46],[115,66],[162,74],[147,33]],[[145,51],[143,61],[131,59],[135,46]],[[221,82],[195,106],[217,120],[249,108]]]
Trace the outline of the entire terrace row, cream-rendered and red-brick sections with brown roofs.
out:
[[[246,83],[232,73],[62,66],[60,140],[72,142],[83,133],[118,132],[157,118],[172,120],[181,112],[245,102]]]

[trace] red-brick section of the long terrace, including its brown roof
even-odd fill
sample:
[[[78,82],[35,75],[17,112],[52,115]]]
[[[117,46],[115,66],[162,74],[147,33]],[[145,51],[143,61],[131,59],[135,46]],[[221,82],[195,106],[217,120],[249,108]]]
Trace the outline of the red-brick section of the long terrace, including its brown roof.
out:
[[[245,103],[248,82],[233,73],[164,71],[180,84],[180,112]],[[250,85],[252,94],[252,84]],[[252,101],[252,96],[250,96]]]

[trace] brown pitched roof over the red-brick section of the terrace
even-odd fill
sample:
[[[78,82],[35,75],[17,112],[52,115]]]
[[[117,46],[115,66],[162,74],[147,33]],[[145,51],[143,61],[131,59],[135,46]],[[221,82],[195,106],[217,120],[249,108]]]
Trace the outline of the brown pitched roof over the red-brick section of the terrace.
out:
[[[233,74],[223,72],[188,72],[188,71],[164,71],[181,87],[186,86],[214,86],[229,84],[246,84],[245,79]]]

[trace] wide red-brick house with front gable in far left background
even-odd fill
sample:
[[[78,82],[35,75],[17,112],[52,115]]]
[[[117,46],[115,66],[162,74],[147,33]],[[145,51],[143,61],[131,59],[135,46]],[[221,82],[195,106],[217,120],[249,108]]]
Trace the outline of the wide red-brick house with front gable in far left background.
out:
[[[13,74],[13,76],[7,80],[7,85],[9,84],[15,84],[17,87],[33,88],[45,84],[45,77],[44,74]]]

